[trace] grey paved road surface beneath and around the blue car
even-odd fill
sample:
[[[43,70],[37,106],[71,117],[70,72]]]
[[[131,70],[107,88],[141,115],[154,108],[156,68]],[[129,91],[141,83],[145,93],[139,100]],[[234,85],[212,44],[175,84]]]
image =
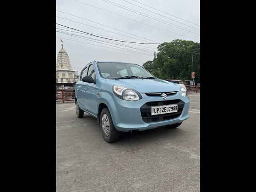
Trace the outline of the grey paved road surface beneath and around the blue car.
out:
[[[190,118],[179,128],[126,133],[112,144],[96,118],[56,104],[57,191],[200,191],[200,93],[189,96]]]

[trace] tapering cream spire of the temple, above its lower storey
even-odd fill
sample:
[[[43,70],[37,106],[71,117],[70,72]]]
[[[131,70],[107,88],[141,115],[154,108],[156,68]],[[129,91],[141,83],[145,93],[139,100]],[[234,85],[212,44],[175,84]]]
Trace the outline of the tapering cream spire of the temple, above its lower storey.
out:
[[[58,52],[56,70],[73,70],[70,65],[68,53],[64,50],[63,44],[61,50]]]

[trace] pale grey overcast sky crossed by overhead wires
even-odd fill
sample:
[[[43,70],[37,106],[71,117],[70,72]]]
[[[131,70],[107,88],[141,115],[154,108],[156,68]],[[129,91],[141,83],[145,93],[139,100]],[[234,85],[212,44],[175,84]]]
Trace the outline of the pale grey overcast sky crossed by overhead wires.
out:
[[[112,14],[110,12],[106,12],[105,10],[100,10],[92,6],[82,4],[78,1],[84,2],[86,4],[90,4],[92,6],[96,6],[98,8],[106,9],[110,12],[114,12],[116,14],[125,16],[127,18],[131,18],[132,20],[124,18],[122,16]],[[144,43],[147,43],[147,42],[163,43],[163,42],[171,42],[172,40],[179,38],[183,40],[192,40],[194,42],[200,42],[200,35],[198,35],[200,34],[200,31],[197,30],[200,28],[200,26],[198,26],[200,25],[200,1],[199,0],[136,0],[138,2],[154,7],[158,10],[162,10],[164,12],[167,12],[169,14],[172,14],[184,20],[188,20],[198,25],[192,24],[190,22],[186,22],[179,18],[175,18],[174,16],[170,16],[163,12],[159,12],[158,10],[154,10],[143,4],[135,2],[134,0],[125,0],[125,1],[124,0],[108,0],[108,1],[114,2],[116,4],[120,4],[122,6],[126,6],[127,8],[135,10],[136,12],[141,12],[141,14],[130,12],[118,6],[114,6],[110,3],[104,2],[104,0],[56,0],[57,10],[74,15],[74,16],[71,16],[71,15],[56,11],[56,16],[62,17],[62,18],[57,17],[56,21],[59,24],[69,26],[71,28],[76,28],[84,32],[97,34],[104,37],[108,36],[108,38],[115,38],[118,40],[144,42]],[[148,10],[144,10],[143,8],[132,5],[128,2],[131,2],[132,4],[136,4],[148,10],[156,12],[172,20],[159,16],[152,12],[149,12]],[[150,17],[154,17],[155,19],[161,20],[162,22],[168,22],[168,25],[161,23],[159,21],[153,20],[151,18],[142,16],[142,14],[146,14]],[[66,18],[68,20],[65,20],[63,18]],[[84,20],[82,18],[85,18],[87,20]],[[72,21],[69,21],[69,20],[72,20]],[[105,26],[90,22],[88,20],[91,20],[93,22],[97,22],[100,24],[104,24]],[[76,22],[79,22],[79,23],[76,23]],[[142,22],[144,24],[139,22]],[[86,26],[84,24],[90,25],[90,26]],[[154,26],[156,28],[147,26],[145,24]],[[179,28],[176,28],[170,25],[174,25]],[[109,26],[110,28],[106,26]],[[56,25],[56,28],[60,28],[60,26]],[[183,28],[183,30],[180,28]],[[62,28],[62,29],[65,29],[65,28]],[[70,30],[70,29],[66,28],[65,30]],[[110,32],[107,32],[104,30],[108,30]],[[196,32],[198,34],[189,32],[188,30]],[[62,34],[60,32],[56,32],[56,37],[62,38],[64,42],[63,46],[64,46],[64,49],[68,52],[72,68],[74,70],[78,70],[78,72],[81,71],[81,68],[83,68],[84,65],[88,64],[93,60],[122,61],[122,62],[131,62],[131,63],[142,65],[144,62],[148,60],[152,60],[154,58],[154,50],[157,51],[157,45],[114,42],[111,40],[97,38],[97,37],[89,36],[86,34],[78,34],[78,33],[64,31],[64,30],[59,30],[59,31],[84,36],[86,38],[94,38],[97,40],[106,41],[106,42],[98,42],[97,40],[93,40],[97,42],[92,42],[92,41],[89,41],[92,39],[78,38],[78,37],[70,36],[68,34]],[[56,58],[57,58],[58,51],[60,50],[60,38],[56,38]],[[69,39],[69,40],[66,40],[66,39]],[[79,41],[79,42],[74,42],[71,40]],[[81,42],[84,42],[84,43],[81,43]],[[111,42],[112,44],[107,42]],[[91,44],[94,44],[94,45],[91,45]],[[130,47],[124,47],[116,44],[123,44],[125,46],[130,46]],[[95,46],[95,45],[98,45],[98,46]],[[108,48],[100,47],[100,46],[105,46]],[[111,49],[111,47],[115,49]],[[134,47],[136,49],[131,47]],[[133,53],[126,52],[129,50],[132,50]]]

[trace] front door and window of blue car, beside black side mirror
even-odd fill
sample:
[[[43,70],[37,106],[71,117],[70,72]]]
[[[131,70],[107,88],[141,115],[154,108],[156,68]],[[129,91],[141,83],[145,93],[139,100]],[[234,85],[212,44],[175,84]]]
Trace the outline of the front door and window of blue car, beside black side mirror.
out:
[[[96,80],[94,71],[94,64],[89,64],[87,76],[91,76],[93,80]],[[97,95],[98,88],[94,83],[85,83],[86,91],[84,92],[84,107],[88,112],[96,115],[97,108]]]

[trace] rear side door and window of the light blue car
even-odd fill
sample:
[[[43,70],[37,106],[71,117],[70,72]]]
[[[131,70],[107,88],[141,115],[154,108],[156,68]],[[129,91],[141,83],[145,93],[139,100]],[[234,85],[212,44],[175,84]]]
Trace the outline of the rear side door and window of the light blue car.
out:
[[[82,81],[82,78],[84,76],[87,76],[87,71],[88,71],[88,66],[86,66],[86,68],[84,68],[84,70],[81,72],[81,75],[79,77],[79,80],[76,82],[76,98],[78,101],[78,105],[80,108],[84,109],[84,92],[85,92],[85,86],[84,84],[86,84],[85,82]]]

